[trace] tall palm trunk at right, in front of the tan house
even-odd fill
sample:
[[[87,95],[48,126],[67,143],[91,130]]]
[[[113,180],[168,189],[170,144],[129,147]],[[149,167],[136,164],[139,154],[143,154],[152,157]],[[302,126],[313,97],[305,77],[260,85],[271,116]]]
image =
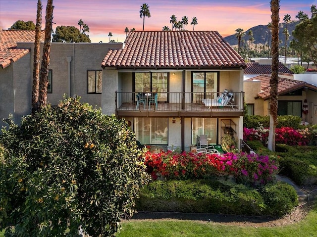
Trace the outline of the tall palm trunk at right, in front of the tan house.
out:
[[[279,0],[271,0],[271,19],[272,19],[272,75],[270,79],[270,95],[269,95],[269,132],[268,144],[269,150],[275,150],[275,127],[277,123],[277,86],[278,86],[278,22],[279,22]]]

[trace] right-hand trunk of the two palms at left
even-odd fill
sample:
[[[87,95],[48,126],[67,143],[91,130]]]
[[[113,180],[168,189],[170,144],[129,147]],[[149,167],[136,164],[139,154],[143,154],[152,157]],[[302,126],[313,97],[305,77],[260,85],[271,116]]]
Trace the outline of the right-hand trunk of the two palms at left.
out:
[[[51,52],[51,33],[53,24],[53,0],[48,0],[46,6],[45,16],[45,40],[43,47],[43,57],[41,65],[41,77],[39,85],[39,107],[47,104],[47,92],[48,92],[48,75],[50,65],[50,52]]]

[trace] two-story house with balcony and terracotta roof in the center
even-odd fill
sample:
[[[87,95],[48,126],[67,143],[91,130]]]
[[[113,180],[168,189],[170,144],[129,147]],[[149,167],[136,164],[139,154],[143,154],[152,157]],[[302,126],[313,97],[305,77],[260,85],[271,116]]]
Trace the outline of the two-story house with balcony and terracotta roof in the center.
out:
[[[188,150],[197,137],[243,138],[243,58],[216,31],[134,31],[102,61],[102,110],[142,144]],[[206,106],[227,89],[230,105]],[[231,94],[230,94],[231,95]]]

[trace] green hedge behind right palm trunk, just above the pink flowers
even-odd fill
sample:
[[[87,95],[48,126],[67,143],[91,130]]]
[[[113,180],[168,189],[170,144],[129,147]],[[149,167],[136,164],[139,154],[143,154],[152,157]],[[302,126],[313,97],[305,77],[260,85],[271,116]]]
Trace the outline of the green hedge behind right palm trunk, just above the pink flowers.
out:
[[[293,115],[279,115],[277,116],[277,128],[290,127],[293,129],[299,129],[301,117]],[[269,127],[269,116],[250,115],[244,120],[244,127],[246,128],[258,128],[260,125],[264,128]]]

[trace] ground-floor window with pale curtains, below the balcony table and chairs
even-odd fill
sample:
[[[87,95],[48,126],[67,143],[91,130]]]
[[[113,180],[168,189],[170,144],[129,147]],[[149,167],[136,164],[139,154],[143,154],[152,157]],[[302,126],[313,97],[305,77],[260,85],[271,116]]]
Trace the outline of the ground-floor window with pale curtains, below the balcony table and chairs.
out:
[[[136,140],[141,144],[168,144],[167,118],[134,118]]]

